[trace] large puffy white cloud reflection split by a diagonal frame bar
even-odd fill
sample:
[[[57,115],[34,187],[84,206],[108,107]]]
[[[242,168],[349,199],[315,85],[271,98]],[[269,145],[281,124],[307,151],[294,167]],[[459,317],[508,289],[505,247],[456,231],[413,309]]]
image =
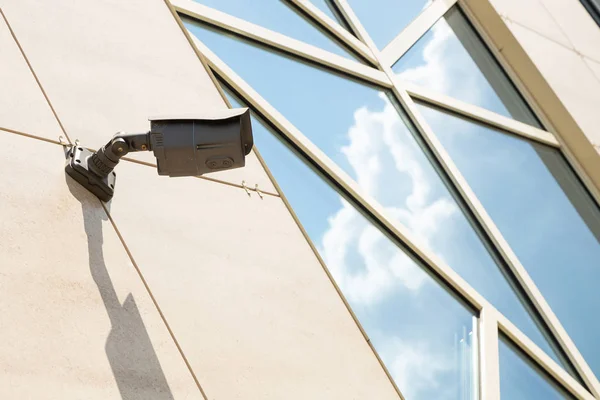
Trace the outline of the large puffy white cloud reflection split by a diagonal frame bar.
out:
[[[390,215],[408,228],[422,248],[431,249],[432,240],[444,234],[441,228],[457,207],[448,198],[433,196],[431,177],[415,158],[420,150],[395,107],[383,95],[381,100],[381,111],[363,107],[354,113],[349,143],[341,152],[360,186],[374,197],[385,193],[393,202],[386,207]],[[321,248],[352,302],[374,304],[394,290],[416,294],[428,280],[419,266],[345,201],[329,218]],[[351,267],[357,261],[363,268]]]

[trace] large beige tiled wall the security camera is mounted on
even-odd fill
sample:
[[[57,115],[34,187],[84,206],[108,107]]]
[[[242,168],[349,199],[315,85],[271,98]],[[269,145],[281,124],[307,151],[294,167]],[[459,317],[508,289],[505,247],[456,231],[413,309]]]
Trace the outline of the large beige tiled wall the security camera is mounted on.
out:
[[[97,148],[225,107],[162,0],[0,7],[58,118],[0,20],[0,398],[398,398],[282,200],[238,187],[276,193],[254,155],[125,161],[106,210],[65,177],[60,124]]]

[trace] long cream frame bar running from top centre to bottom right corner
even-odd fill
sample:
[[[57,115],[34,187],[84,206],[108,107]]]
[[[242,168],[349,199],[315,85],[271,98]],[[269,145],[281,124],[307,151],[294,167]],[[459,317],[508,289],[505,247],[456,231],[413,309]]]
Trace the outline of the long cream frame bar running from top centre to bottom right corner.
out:
[[[360,21],[352,12],[352,9],[348,5],[347,1],[335,1],[338,7],[340,8],[340,11],[342,11],[342,14],[347,18],[348,22],[351,24],[352,28],[355,29],[355,31],[360,32],[361,38],[365,41],[367,46],[371,48],[371,51],[373,52],[375,57],[381,61],[381,55],[378,52],[375,44],[369,38],[364,28],[361,26]],[[531,279],[527,270],[523,267],[517,256],[514,254],[511,247],[500,233],[500,230],[496,227],[495,223],[487,214],[483,205],[475,196],[475,193],[472,191],[465,178],[459,172],[458,168],[456,167],[446,150],[443,148],[443,146],[441,145],[431,128],[428,126],[424,118],[420,115],[420,113],[416,109],[415,103],[412,101],[408,92],[404,89],[400,81],[398,79],[395,79],[395,75],[391,67],[388,65],[383,65],[381,63],[380,67],[392,81],[394,85],[392,91],[394,92],[397,100],[400,102],[404,110],[407,112],[407,114],[413,121],[415,127],[417,128],[417,131],[429,147],[429,150],[432,151],[436,160],[442,166],[445,175],[448,178],[450,178],[456,189],[459,191],[461,197],[476,217],[477,221],[484,228],[490,240],[500,252],[500,255],[502,256],[503,260],[515,274],[521,287],[525,290],[525,293],[528,295],[528,297],[534,304],[536,310],[539,312],[544,322],[546,322],[551,332],[558,340],[566,355],[569,357],[569,360],[575,366],[577,372],[581,375],[582,379],[588,385],[592,393],[596,397],[600,397],[600,384],[598,380],[596,379],[591,368],[589,367],[589,365],[584,360],[583,356],[575,346],[573,340],[569,337],[566,330],[558,320],[558,317],[554,314],[549,304],[542,296],[541,292],[533,282],[533,279]]]

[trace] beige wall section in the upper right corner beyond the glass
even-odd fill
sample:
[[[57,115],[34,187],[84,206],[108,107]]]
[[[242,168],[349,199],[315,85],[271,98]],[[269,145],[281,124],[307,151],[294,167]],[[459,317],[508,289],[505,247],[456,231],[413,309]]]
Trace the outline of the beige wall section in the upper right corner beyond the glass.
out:
[[[600,151],[600,27],[579,0],[491,3]]]

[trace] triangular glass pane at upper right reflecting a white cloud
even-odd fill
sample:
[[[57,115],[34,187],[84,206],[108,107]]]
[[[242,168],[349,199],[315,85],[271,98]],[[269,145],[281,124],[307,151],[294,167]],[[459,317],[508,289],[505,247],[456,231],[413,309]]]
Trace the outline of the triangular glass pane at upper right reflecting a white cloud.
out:
[[[403,80],[539,127],[485,43],[456,7],[392,69]]]

